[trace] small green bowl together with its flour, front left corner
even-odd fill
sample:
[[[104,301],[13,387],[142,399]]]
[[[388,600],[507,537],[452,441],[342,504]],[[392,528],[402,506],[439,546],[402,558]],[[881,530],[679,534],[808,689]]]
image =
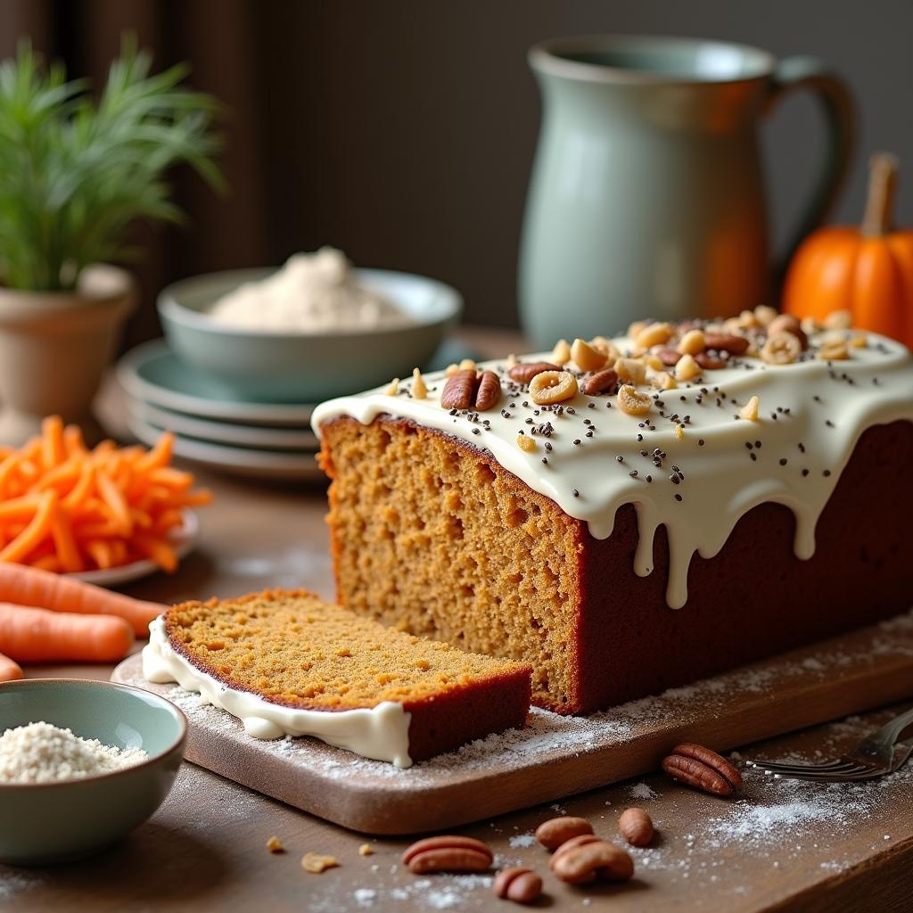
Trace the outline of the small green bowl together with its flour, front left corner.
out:
[[[178,708],[140,688],[0,685],[0,862],[68,862],[130,833],[171,790],[186,733]]]

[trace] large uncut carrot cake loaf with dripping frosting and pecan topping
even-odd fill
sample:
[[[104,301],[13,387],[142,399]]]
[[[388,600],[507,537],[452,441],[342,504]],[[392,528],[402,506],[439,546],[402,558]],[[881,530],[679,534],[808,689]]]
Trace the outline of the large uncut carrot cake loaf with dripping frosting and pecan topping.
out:
[[[913,603],[913,358],[645,321],[321,404],[339,601],[605,708]]]

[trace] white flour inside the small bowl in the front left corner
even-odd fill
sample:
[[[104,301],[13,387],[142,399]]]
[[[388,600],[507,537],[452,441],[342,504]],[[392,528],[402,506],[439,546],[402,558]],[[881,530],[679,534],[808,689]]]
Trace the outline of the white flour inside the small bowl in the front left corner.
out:
[[[50,783],[95,777],[146,761],[142,748],[119,749],[80,739],[50,723],[29,723],[0,736],[0,783]]]

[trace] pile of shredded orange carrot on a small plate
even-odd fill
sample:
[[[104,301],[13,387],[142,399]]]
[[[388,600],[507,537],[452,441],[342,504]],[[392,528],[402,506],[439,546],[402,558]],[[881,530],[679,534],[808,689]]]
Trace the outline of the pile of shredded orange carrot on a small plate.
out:
[[[68,573],[151,558],[173,571],[184,510],[212,500],[171,466],[173,443],[165,433],[151,450],[89,450],[78,427],[52,415],[18,450],[0,447],[0,563]]]

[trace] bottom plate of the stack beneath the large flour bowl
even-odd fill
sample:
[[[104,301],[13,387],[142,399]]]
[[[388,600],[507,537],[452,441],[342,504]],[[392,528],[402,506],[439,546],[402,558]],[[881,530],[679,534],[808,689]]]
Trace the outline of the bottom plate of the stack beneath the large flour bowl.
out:
[[[127,426],[143,444],[155,446],[163,428],[143,422],[135,415],[127,418]],[[192,437],[174,436],[174,453],[184,459],[193,460],[202,466],[230,472],[237,476],[286,479],[288,481],[325,480],[323,470],[317,465],[312,451],[279,453],[275,450],[251,450],[247,447],[232,447],[222,444],[208,444]]]

